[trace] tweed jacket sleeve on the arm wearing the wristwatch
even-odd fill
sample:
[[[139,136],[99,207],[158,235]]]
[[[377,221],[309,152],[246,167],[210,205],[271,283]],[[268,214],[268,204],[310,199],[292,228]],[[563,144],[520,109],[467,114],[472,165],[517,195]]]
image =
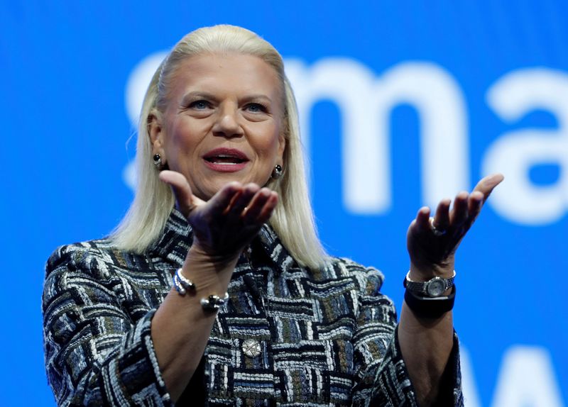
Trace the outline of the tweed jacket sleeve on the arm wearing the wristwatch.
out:
[[[393,301],[379,291],[383,274],[367,268],[360,278],[358,327],[353,338],[356,372],[353,406],[418,406],[398,344]],[[449,360],[442,382],[453,403],[446,400],[440,405],[463,406],[459,345],[455,333]]]

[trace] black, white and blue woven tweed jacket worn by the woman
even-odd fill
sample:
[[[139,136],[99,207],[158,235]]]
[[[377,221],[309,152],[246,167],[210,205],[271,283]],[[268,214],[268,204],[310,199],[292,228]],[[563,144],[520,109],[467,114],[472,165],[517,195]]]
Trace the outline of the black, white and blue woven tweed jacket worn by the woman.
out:
[[[106,239],[59,247],[46,265],[45,364],[60,406],[173,406],[151,339],[192,234],[173,211],[142,255]],[[383,274],[335,258],[305,269],[265,225],[241,256],[198,372],[177,406],[417,406]],[[260,354],[246,355],[254,340]],[[457,339],[449,367],[463,403]],[[453,394],[453,395],[452,395]]]

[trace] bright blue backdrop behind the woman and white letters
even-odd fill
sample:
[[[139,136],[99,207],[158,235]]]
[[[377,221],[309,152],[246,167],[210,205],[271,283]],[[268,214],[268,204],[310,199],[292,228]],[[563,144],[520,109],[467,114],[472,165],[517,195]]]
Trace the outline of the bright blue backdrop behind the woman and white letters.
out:
[[[207,3],[0,2],[0,405],[54,405],[43,369],[45,260],[58,245],[102,237],[126,212],[132,192],[123,172],[135,150],[133,140],[127,143],[133,125],[126,84],[138,62],[190,30],[244,26],[273,43],[286,60],[310,66],[348,57],[376,77],[400,62],[443,67],[466,101],[469,186],[482,176],[484,155],[503,133],[562,131],[555,115],[544,110],[503,122],[488,106],[486,92],[518,69],[568,74],[563,1]],[[400,307],[408,269],[405,233],[425,204],[420,116],[404,104],[391,112],[393,205],[364,215],[344,205],[337,104],[322,100],[309,114],[312,197],[321,238],[332,254],[382,269],[383,291]],[[528,177],[550,186],[566,170],[542,162]],[[469,352],[480,406],[492,405],[503,355],[518,345],[550,355],[555,386],[568,403],[567,226],[565,216],[535,225],[515,222],[489,204],[460,247],[455,326]]]

